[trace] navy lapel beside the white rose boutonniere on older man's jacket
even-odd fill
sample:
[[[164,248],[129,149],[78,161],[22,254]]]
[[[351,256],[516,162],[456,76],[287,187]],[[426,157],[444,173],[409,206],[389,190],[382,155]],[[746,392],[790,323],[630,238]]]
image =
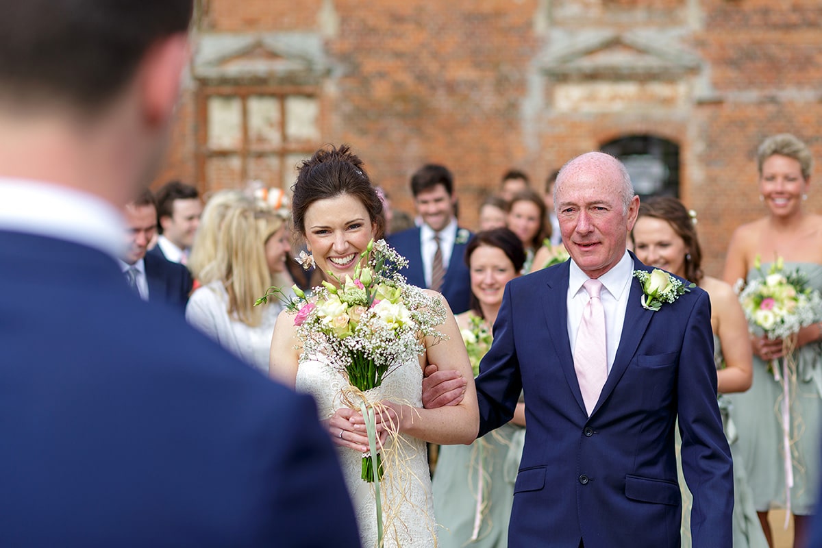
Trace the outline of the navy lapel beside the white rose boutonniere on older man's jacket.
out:
[[[650,269],[640,263],[639,260],[631,253],[631,258],[634,260],[635,269]],[[642,284],[639,279],[631,276],[630,292],[628,293],[628,303],[625,311],[625,323],[622,325],[622,334],[619,341],[619,348],[617,348],[617,356],[614,357],[614,364],[611,367],[611,372],[608,373],[608,378],[603,386],[603,392],[599,395],[597,406],[593,408],[593,413],[597,412],[600,405],[607,399],[609,395],[616,388],[617,383],[622,378],[628,364],[633,359],[637,348],[640,347],[640,342],[645,334],[645,329],[653,317],[653,312],[645,310],[642,307]]]

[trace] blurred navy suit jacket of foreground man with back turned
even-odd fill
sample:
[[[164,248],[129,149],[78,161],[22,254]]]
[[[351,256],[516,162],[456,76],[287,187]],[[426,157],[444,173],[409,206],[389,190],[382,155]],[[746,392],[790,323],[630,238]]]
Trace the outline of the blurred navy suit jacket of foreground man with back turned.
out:
[[[0,546],[360,546],[312,398],[101,251],[0,231],[0,265]]]

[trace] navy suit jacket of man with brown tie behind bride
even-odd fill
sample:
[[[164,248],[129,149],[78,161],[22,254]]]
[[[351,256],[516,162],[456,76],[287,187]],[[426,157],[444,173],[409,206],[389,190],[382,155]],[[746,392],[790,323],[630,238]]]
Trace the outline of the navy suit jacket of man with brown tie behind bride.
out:
[[[459,235],[460,231],[464,230],[464,228],[458,228],[457,234]],[[400,270],[399,273],[405,276],[408,283],[419,288],[427,288],[419,233],[419,227],[409,228],[400,233],[391,234],[388,237],[388,243],[399,252],[399,255],[409,261],[408,267]],[[471,274],[468,265],[465,265],[465,246],[469,239],[460,243],[454,242],[446,278],[442,281],[440,289],[442,296],[446,297],[448,305],[455,314],[461,314],[471,306]]]

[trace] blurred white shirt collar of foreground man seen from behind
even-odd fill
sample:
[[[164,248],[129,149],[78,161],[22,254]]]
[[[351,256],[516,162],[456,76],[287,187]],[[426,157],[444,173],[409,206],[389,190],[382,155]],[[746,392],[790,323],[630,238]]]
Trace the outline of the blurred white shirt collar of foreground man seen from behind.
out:
[[[0,229],[94,247],[117,258],[126,250],[126,223],[93,194],[48,182],[0,177]]]

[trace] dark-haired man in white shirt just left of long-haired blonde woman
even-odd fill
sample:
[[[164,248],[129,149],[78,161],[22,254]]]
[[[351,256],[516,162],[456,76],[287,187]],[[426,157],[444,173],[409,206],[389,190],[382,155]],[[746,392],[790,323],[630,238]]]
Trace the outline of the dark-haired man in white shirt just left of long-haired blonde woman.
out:
[[[195,187],[179,181],[165,183],[157,191],[159,237],[152,253],[185,265],[202,211],[200,193]]]

